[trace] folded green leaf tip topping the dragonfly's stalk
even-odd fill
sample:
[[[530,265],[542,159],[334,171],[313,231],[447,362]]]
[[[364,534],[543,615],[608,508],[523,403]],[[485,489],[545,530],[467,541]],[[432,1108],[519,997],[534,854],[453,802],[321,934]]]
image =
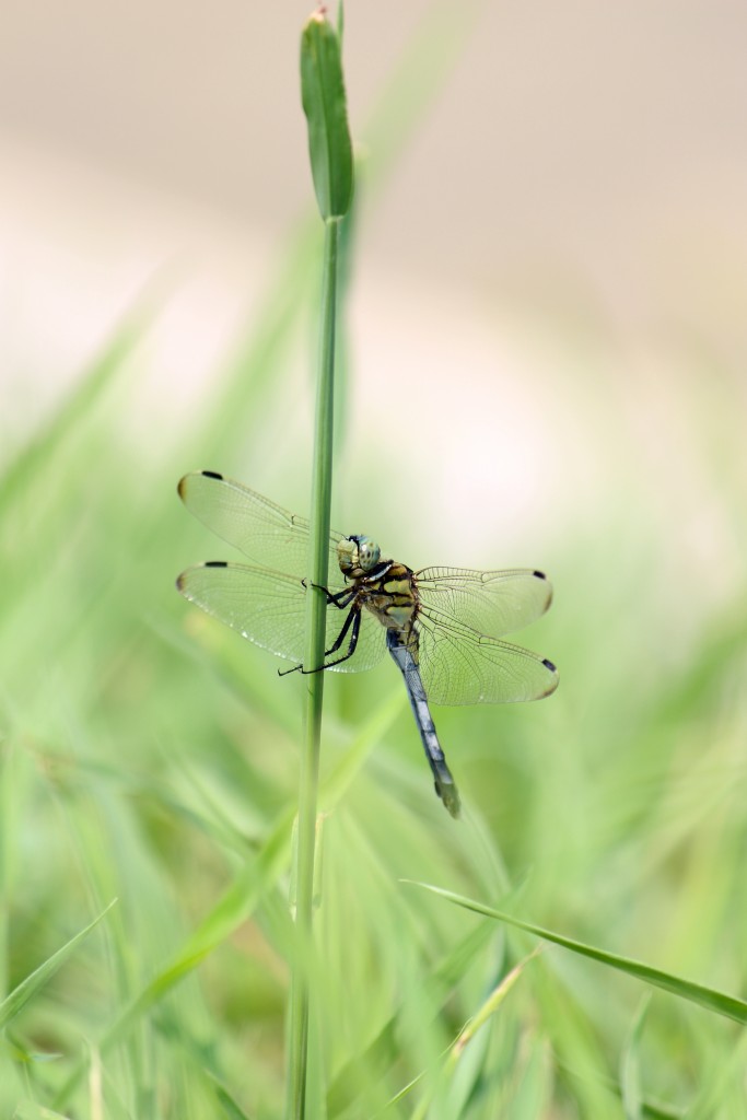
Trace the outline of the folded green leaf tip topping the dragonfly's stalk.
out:
[[[325,221],[344,217],[353,197],[353,146],[340,43],[321,9],[301,34],[301,102],[319,213]]]

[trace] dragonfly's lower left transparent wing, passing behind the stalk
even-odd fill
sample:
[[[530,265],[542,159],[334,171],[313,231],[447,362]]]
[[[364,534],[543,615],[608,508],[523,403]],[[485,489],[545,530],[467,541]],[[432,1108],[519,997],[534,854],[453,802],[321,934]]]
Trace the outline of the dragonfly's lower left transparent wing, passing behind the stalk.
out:
[[[187,568],[179,576],[177,587],[185,598],[239,631],[250,642],[278,657],[301,664],[307,592],[297,577],[245,564],[207,563]],[[334,645],[346,617],[344,609],[327,608],[325,648]],[[371,669],[381,660],[384,647],[381,623],[363,612],[355,653],[334,669],[343,673]],[[340,652],[345,650],[346,643]]]

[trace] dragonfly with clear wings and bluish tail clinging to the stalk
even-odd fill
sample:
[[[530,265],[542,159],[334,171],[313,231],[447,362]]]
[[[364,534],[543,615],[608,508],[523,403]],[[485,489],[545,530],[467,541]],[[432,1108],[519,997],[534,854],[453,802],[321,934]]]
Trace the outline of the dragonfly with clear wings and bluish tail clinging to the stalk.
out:
[[[505,642],[550,606],[544,572],[422,568],[382,557],[363,534],[329,536],[324,661],[304,666],[309,522],[214,470],[193,472],[179,496],[252,566],[213,560],[187,568],[177,588],[192,603],[302,673],[357,672],[387,651],[404,680],[437,795],[458,816],[457,785],[430,703],[540,700],[558,687],[547,657]],[[291,672],[292,670],[287,670]]]

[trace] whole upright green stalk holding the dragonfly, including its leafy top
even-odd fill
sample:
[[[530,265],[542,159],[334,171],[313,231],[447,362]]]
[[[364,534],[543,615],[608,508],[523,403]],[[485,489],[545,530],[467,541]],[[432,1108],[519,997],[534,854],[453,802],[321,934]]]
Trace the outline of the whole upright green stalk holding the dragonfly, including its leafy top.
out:
[[[320,588],[327,586],[329,564],[339,224],[349,208],[353,194],[353,152],[347,129],[339,39],[323,12],[308,20],[301,36],[301,100],[308,122],[314,188],[325,223],[304,657],[307,669],[316,669],[324,662],[327,616],[327,598]],[[296,936],[288,1032],[287,1120],[304,1120],[306,1117],[314,978],[311,925],[324,673],[311,672],[305,681],[308,692],[293,876]]]

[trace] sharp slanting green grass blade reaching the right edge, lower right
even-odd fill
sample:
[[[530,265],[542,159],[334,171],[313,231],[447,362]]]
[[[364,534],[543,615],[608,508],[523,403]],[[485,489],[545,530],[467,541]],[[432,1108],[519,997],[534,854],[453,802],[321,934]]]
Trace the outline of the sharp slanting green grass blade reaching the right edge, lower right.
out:
[[[504,914],[502,911],[493,909],[483,903],[465,898],[463,895],[456,895],[432,884],[417,883],[414,886],[424,887],[426,890],[430,890],[435,895],[441,895],[443,898],[448,898],[449,902],[456,903],[457,906],[464,906],[465,909],[474,911],[475,914],[483,914],[485,917],[494,918],[497,922],[506,922],[508,925],[516,926],[517,930],[525,930],[526,933],[534,934],[535,937],[542,937],[544,941],[551,941],[555,945],[562,945],[563,949],[570,949],[572,953],[588,956],[589,960],[598,961],[600,964],[606,964],[618,972],[625,972],[627,976],[635,977],[636,980],[643,980],[644,983],[662,988],[673,996],[679,996],[680,999],[687,999],[691,1004],[697,1004],[699,1007],[706,1008],[707,1011],[715,1011],[717,1015],[722,1015],[727,1019],[734,1019],[736,1023],[747,1026],[747,1002],[738,999],[736,996],[728,996],[716,988],[707,988],[703,984],[694,983],[692,980],[685,980],[673,972],[664,972],[661,969],[652,968],[652,965],[645,964],[643,961],[635,961],[628,956],[618,956],[616,953],[608,953],[604,949],[586,945],[581,941],[573,941],[572,937],[564,937],[560,933],[553,933],[552,930],[544,930],[542,926],[533,925],[531,922],[523,922],[511,914]]]

